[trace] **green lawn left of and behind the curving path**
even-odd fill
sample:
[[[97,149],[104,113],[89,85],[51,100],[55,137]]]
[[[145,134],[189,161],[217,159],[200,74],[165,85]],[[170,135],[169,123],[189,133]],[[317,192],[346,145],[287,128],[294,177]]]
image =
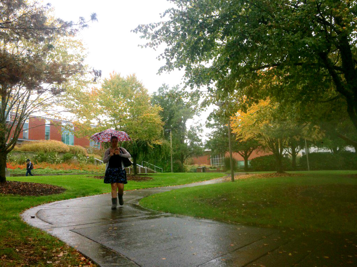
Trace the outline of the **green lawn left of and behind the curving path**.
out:
[[[129,181],[125,185],[125,190],[193,183],[223,175],[221,173],[153,174],[152,180]],[[66,191],[41,197],[0,194],[0,266],[84,266],[85,260],[73,248],[25,224],[19,214],[25,209],[43,203],[109,193],[110,185],[104,184],[101,179],[86,175],[7,177],[7,180],[58,185],[66,188]]]

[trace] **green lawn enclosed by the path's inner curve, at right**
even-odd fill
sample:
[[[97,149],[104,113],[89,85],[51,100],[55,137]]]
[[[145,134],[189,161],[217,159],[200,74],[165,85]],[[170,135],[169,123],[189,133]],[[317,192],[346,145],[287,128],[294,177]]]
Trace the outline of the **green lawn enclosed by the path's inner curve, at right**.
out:
[[[293,173],[293,172],[290,172]],[[357,232],[357,171],[239,179],[151,195],[144,207],[221,221]]]

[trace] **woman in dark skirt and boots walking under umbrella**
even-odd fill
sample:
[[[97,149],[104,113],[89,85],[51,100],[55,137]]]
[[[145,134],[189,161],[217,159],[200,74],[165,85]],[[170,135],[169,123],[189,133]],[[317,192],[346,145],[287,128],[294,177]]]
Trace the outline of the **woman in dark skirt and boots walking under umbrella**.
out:
[[[111,147],[104,152],[103,162],[107,163],[105,169],[104,183],[110,184],[112,196],[112,209],[116,209],[117,198],[116,191],[118,189],[119,204],[123,205],[124,184],[127,183],[126,171],[122,163],[122,157],[130,158],[129,152],[123,147],[118,147],[118,137],[110,138]]]

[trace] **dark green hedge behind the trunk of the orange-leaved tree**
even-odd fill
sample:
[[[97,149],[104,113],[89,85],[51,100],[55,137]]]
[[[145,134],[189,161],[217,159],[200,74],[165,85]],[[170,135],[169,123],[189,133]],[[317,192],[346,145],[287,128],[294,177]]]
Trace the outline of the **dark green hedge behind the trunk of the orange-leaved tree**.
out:
[[[274,155],[253,158],[250,167],[253,171],[276,171],[276,158]],[[292,169],[290,158],[282,158],[282,167],[284,171]]]

